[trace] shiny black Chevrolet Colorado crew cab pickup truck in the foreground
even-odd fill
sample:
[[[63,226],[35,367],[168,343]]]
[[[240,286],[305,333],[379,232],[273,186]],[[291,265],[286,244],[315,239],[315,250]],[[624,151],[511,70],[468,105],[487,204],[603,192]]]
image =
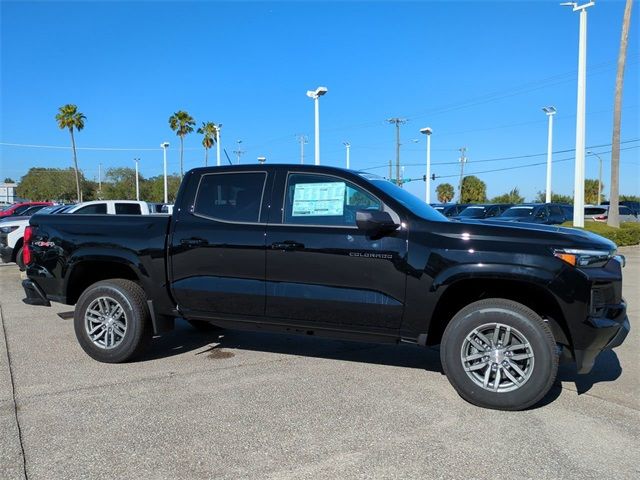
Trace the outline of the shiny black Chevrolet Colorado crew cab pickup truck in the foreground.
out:
[[[32,305],[75,305],[82,348],[139,355],[178,317],[196,328],[440,344],[466,400],[517,410],[629,331],[624,259],[583,231],[451,222],[384,179],[338,168],[191,170],[172,216],[34,216]]]

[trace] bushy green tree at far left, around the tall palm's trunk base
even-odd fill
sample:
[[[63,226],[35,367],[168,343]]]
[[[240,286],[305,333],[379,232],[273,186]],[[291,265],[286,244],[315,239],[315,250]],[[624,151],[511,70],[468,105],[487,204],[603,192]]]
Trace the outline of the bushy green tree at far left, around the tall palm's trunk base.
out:
[[[56,200],[70,202],[77,198],[73,168],[31,168],[21,179],[16,194],[32,201]],[[79,172],[83,188],[84,177]]]

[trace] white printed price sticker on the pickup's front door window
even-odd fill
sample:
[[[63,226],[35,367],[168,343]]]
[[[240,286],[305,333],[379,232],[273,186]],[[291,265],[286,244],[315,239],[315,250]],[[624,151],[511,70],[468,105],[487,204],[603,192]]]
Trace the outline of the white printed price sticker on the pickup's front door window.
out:
[[[336,217],[344,213],[344,182],[297,183],[293,217]]]

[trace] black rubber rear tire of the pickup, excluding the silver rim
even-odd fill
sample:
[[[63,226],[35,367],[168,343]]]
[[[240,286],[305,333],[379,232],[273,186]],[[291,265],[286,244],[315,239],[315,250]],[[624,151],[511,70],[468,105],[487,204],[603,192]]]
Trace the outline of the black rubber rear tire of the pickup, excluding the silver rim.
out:
[[[117,302],[124,312],[125,332],[119,343],[111,348],[96,345],[86,327],[88,309],[100,298]],[[153,336],[144,290],[130,280],[104,280],[87,288],[76,304],[73,324],[82,349],[94,360],[104,363],[122,363],[140,356]]]

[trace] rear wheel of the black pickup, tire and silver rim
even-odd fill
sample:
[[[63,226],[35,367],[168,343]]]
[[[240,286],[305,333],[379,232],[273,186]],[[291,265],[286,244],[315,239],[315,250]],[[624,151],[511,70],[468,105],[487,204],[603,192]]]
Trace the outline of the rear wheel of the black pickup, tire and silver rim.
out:
[[[94,360],[121,363],[139,356],[152,337],[144,290],[130,280],[94,283],[76,304],[74,329]]]

